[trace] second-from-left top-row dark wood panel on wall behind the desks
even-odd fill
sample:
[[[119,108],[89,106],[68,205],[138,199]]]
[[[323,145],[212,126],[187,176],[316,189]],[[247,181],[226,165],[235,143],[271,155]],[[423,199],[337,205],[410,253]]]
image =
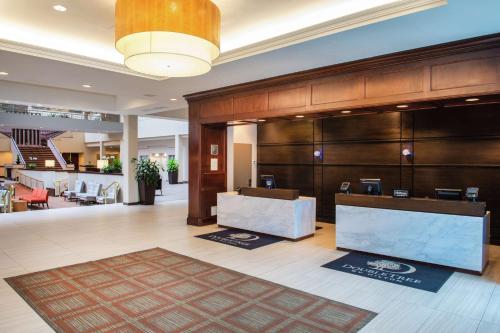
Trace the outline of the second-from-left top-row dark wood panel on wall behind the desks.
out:
[[[323,120],[323,141],[399,140],[400,112]]]

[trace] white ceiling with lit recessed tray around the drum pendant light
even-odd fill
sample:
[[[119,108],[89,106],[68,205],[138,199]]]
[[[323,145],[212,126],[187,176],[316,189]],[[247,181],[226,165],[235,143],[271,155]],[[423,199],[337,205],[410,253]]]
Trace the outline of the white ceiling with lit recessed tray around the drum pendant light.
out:
[[[178,119],[187,93],[500,31],[497,0],[214,2],[218,65],[155,80],[119,64],[114,0],[0,0],[0,100]]]

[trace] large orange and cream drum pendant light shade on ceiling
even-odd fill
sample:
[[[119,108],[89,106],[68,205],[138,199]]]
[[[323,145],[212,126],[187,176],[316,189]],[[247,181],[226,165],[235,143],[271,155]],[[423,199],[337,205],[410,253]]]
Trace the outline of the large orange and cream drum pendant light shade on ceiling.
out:
[[[117,0],[125,65],[163,77],[205,74],[220,54],[220,12],[209,0]]]

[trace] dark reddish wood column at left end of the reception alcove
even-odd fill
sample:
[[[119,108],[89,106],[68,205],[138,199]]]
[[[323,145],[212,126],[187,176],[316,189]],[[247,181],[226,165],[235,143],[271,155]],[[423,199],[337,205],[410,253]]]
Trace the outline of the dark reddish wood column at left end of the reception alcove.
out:
[[[226,124],[200,122],[200,104],[189,105],[190,225],[217,222],[217,193],[226,191]],[[216,160],[216,161],[215,161]],[[216,167],[215,167],[216,166]]]

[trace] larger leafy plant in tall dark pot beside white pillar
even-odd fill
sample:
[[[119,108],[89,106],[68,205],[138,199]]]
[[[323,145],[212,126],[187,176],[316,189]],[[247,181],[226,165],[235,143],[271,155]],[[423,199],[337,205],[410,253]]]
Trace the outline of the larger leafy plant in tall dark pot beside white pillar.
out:
[[[132,159],[135,163],[135,179],[139,184],[139,199],[142,205],[154,205],[156,184],[160,179],[160,167],[151,160]]]

